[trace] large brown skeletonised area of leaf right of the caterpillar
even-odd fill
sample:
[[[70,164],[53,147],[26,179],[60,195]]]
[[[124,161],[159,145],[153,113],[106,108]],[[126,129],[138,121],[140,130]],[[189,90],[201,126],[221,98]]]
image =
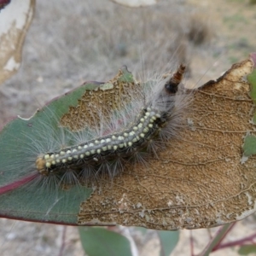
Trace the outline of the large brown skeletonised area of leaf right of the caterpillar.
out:
[[[241,164],[243,137],[253,131],[248,96],[250,60],[196,90],[186,129],[160,160],[137,165],[81,203],[79,224],[123,224],[149,229],[209,228],[256,208],[255,160]]]

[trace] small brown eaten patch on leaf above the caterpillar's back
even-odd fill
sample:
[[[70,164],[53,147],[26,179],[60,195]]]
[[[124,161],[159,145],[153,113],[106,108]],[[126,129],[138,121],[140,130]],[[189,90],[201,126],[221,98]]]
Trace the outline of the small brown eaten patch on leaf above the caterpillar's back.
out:
[[[95,84],[95,82],[87,82]],[[101,119],[108,118],[110,109],[124,108],[131,102],[129,91],[134,90],[137,83],[132,79],[126,67],[108,83],[102,83],[94,90],[86,90],[79,103],[70,107],[67,114],[61,118],[61,125],[72,131],[78,131],[86,126],[98,126]]]

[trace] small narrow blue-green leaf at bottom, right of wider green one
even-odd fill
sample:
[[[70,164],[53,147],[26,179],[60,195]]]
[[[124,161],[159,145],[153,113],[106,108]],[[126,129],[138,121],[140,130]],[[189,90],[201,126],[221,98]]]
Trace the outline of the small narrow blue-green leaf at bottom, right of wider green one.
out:
[[[178,231],[157,231],[160,238],[160,256],[170,255],[177,245]]]

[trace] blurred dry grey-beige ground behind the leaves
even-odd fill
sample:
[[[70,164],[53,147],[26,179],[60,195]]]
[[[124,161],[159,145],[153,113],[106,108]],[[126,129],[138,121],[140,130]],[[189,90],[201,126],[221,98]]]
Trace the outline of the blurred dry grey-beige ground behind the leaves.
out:
[[[36,3],[26,37],[23,61],[15,76],[0,87],[3,122],[36,108],[86,80],[112,79],[126,65],[138,79],[148,73],[188,65],[190,84],[217,79],[231,64],[255,51],[256,12],[246,0],[161,0],[131,9],[106,0]],[[174,64],[173,64],[174,63]],[[174,66],[173,66],[174,65]],[[39,101],[39,102],[38,102]],[[62,226],[0,219],[1,255],[58,255]],[[237,224],[227,239],[253,232],[253,216]],[[195,253],[207,245],[212,230],[193,230]],[[77,228],[67,227],[61,255],[83,255]],[[190,255],[189,230],[180,232],[172,255]],[[158,255],[154,232],[137,236],[140,255]],[[214,255],[236,255],[229,248]]]

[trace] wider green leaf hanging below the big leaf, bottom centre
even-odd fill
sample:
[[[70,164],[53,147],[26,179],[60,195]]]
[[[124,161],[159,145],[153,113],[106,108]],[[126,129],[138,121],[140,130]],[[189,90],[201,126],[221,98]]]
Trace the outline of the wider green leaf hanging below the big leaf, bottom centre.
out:
[[[104,228],[79,228],[84,251],[89,256],[131,256],[131,245],[125,236]]]

